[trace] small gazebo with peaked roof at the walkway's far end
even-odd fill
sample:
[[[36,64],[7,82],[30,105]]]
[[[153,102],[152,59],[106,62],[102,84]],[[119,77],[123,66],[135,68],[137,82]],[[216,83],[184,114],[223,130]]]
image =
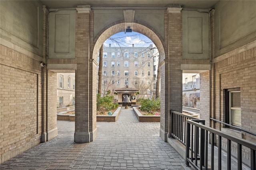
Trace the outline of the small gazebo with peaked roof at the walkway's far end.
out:
[[[122,104],[124,97],[127,95],[131,101],[131,104],[136,104],[136,93],[138,92],[135,88],[130,88],[128,86],[124,88],[119,88],[115,90],[117,92],[117,102],[118,104]]]

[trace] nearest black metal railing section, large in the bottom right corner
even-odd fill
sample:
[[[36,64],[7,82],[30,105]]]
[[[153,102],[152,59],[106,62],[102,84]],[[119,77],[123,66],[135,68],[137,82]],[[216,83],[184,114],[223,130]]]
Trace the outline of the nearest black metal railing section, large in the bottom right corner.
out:
[[[250,169],[256,169],[256,144],[234,137],[222,131],[218,131],[211,127],[206,127],[202,125],[202,120],[186,120],[186,166],[193,166],[195,169],[218,169],[221,170],[223,166],[224,169],[231,170],[231,159],[237,159],[237,169],[242,170],[242,147],[246,147],[250,150]],[[210,138],[210,143],[208,142],[208,137]],[[214,140],[218,141],[218,151],[214,152]],[[222,165],[222,139],[226,139],[226,165]],[[231,143],[237,144],[237,157],[231,156]],[[210,145],[210,146],[209,146]],[[208,146],[210,149],[208,150]],[[210,153],[209,153],[210,152]],[[214,156],[217,156],[214,159]],[[209,158],[210,157],[210,158]],[[208,160],[209,166],[208,166]],[[214,163],[217,167],[214,167]]]

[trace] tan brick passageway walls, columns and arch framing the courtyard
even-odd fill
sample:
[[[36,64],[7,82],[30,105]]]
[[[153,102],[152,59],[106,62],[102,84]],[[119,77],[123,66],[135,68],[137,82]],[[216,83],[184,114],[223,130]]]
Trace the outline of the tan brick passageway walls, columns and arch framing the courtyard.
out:
[[[255,143],[256,1],[173,3],[1,0],[0,163],[58,135],[57,73],[75,72],[74,141],[97,140],[98,51],[128,27],[150,38],[159,51],[163,141],[169,139],[170,110],[182,112],[182,73],[192,70],[200,73],[205,125]],[[225,141],[219,144],[226,147]],[[242,152],[255,158],[255,151]]]

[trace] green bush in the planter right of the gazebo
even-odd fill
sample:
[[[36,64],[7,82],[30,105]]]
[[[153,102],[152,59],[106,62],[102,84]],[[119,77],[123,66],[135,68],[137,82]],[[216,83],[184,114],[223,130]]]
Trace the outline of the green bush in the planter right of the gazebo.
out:
[[[141,101],[141,107],[140,109],[142,111],[147,111],[149,113],[154,112],[154,111],[159,111],[160,109],[160,98],[158,99],[142,99]]]

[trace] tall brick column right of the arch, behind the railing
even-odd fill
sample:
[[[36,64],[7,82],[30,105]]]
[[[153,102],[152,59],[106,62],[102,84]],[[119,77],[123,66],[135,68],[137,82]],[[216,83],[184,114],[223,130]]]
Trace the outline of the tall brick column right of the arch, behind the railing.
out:
[[[182,112],[182,8],[168,8],[168,59],[165,61],[165,114],[160,137],[167,141],[170,110]]]

